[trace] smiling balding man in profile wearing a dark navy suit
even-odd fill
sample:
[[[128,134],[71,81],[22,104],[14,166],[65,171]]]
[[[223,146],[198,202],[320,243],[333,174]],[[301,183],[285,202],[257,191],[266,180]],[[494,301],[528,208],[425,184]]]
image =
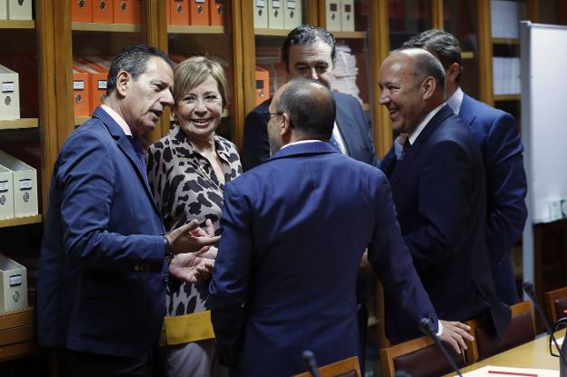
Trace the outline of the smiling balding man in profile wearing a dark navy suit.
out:
[[[440,317],[490,320],[502,335],[511,313],[490,273],[482,156],[469,127],[444,102],[443,66],[423,49],[394,51],[383,62],[380,88],[393,130],[408,134],[401,158],[392,148],[382,168],[423,287]],[[407,316],[385,297],[390,340],[418,335],[399,328],[403,321],[390,322]]]

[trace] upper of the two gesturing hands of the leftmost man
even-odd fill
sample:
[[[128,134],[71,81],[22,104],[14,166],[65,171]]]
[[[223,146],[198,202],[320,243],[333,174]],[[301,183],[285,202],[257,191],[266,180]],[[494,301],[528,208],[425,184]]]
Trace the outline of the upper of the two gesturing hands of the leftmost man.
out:
[[[207,224],[207,231],[210,232],[212,225]],[[169,250],[174,254],[205,252],[209,246],[217,243],[220,236],[213,236],[199,228],[199,222],[192,220],[170,233],[165,234],[165,239],[169,243]]]

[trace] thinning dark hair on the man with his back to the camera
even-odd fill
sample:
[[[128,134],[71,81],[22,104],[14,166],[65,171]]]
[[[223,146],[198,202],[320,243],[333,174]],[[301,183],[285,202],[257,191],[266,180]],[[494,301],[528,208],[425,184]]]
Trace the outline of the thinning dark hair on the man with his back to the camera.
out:
[[[333,95],[323,84],[293,78],[277,97],[274,107],[276,112],[289,115],[297,134],[321,140],[331,138],[336,106]]]

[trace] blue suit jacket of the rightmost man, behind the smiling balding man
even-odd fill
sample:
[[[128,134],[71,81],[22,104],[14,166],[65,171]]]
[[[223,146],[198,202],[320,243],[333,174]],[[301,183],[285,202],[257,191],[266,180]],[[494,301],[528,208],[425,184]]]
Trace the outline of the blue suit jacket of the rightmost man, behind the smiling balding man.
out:
[[[512,115],[464,95],[459,117],[481,149],[487,183],[486,245],[492,277],[502,301],[518,301],[510,251],[522,236],[528,211],[523,145]]]

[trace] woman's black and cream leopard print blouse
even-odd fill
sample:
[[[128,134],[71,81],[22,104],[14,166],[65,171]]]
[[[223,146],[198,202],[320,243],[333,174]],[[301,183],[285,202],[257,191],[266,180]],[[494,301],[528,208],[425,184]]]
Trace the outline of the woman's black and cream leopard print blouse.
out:
[[[242,174],[240,157],[233,143],[214,134],[214,146],[219,155],[224,182]],[[196,152],[178,124],[169,134],[148,149],[148,181],[160,210],[166,231],[198,219],[204,226],[211,219],[215,234],[224,200],[224,184],[214,174],[213,166]],[[179,291],[167,295],[167,315],[183,315],[207,310],[208,283],[184,283]]]

